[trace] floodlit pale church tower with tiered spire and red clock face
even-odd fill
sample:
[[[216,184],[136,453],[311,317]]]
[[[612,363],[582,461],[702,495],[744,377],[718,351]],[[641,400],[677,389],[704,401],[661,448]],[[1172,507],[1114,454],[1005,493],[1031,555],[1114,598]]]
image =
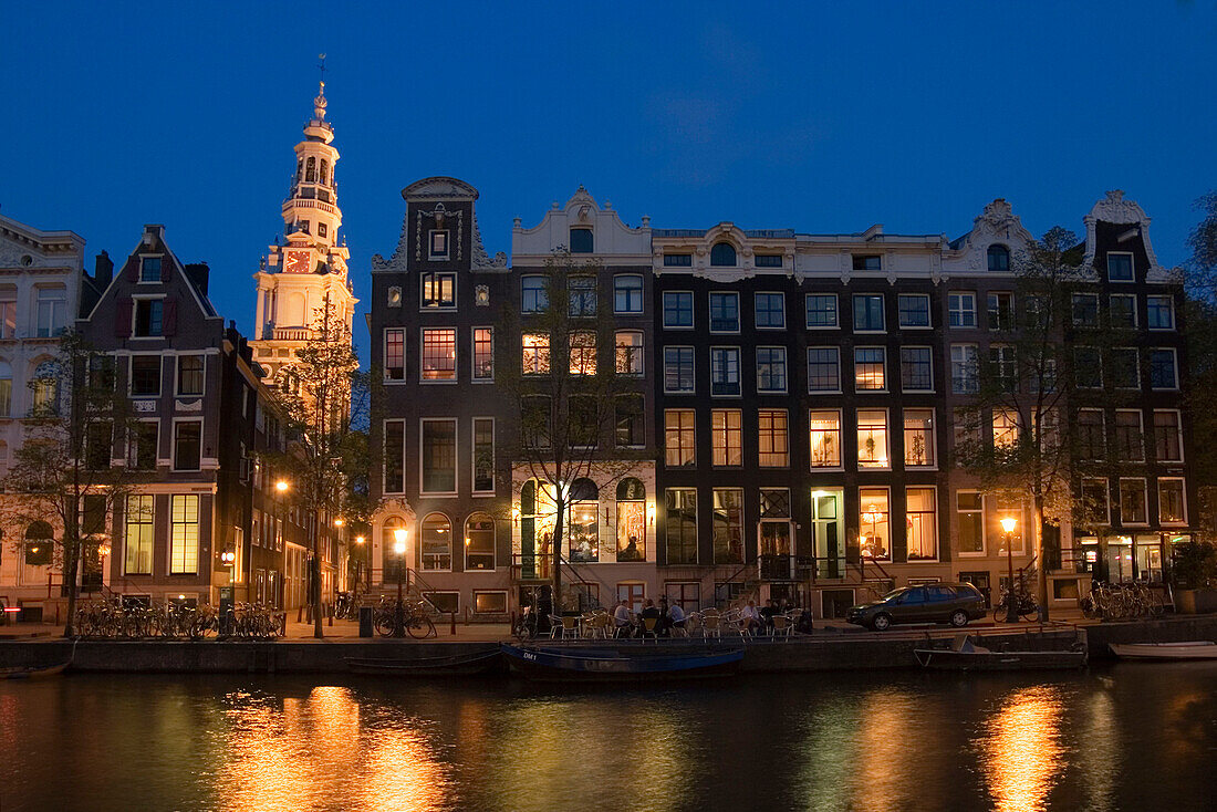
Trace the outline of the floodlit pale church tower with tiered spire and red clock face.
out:
[[[350,252],[338,234],[342,209],[333,179],[338,150],[333,147],[333,125],[325,121],[327,103],[321,82],[313,100],[313,119],[304,125],[304,140],[296,145],[296,172],[282,205],[284,239],[275,237],[253,275],[257,326],[249,343],[270,383],[312,336],[327,307],[332,319],[346,324],[349,336],[359,301],[347,278]]]

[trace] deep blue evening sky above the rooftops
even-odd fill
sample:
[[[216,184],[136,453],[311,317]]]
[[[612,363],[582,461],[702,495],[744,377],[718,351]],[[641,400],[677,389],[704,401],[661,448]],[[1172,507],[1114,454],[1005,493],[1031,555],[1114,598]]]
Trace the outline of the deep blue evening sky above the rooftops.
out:
[[[9,0],[2,17],[0,211],[83,235],[90,268],[163,223],[246,331],[320,51],[365,299],[400,190],[427,175],[481,191],[490,253],[581,183],[632,224],[950,237],[994,197],[1036,234],[1081,233],[1120,187],[1166,264],[1217,187],[1211,0]]]

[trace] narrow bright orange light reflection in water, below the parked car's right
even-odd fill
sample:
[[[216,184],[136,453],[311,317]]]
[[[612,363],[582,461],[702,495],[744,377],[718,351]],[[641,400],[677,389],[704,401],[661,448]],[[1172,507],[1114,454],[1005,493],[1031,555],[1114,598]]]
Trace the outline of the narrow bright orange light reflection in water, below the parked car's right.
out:
[[[1060,690],[1034,685],[1010,694],[988,718],[977,745],[981,772],[1002,812],[1048,807],[1048,794],[1065,771],[1060,744]]]

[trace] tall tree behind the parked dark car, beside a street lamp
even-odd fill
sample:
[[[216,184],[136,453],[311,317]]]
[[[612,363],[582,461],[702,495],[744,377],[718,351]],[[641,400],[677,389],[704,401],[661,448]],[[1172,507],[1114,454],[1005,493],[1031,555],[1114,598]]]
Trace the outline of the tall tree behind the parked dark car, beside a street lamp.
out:
[[[1114,369],[1116,357],[1098,298],[1073,301],[1075,290],[1088,286],[1079,258],[1077,237],[1061,228],[1011,258],[1014,301],[1009,309],[1000,303],[991,308],[989,327],[998,335],[988,357],[977,359],[975,377],[964,373],[974,397],[957,415],[964,424],[957,461],[985,491],[1031,504],[1041,621],[1048,620],[1044,523],[1081,513],[1075,477],[1086,471],[1086,460],[1105,465],[1109,457],[1084,448],[1094,436],[1078,425],[1078,409],[1110,405],[1120,397],[1115,375],[1101,383],[1090,380],[1104,359]],[[1073,340],[1067,341],[1071,329]],[[1098,431],[1106,449],[1101,424]]]

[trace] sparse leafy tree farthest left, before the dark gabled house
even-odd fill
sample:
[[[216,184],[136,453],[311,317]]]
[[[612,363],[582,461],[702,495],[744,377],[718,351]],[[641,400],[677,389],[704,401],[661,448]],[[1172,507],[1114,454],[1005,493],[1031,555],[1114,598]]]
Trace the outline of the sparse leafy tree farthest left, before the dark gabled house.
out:
[[[118,391],[114,358],[91,349],[78,332],[63,334],[44,374],[30,381],[33,407],[27,435],[5,477],[4,523],[21,528],[57,523],[54,562],[68,599],[65,637],[75,633],[77,579],[85,554],[106,543],[107,517],[131,493],[129,465],[112,465],[116,443],[136,422],[130,401]],[[24,532],[13,533],[24,542]]]

